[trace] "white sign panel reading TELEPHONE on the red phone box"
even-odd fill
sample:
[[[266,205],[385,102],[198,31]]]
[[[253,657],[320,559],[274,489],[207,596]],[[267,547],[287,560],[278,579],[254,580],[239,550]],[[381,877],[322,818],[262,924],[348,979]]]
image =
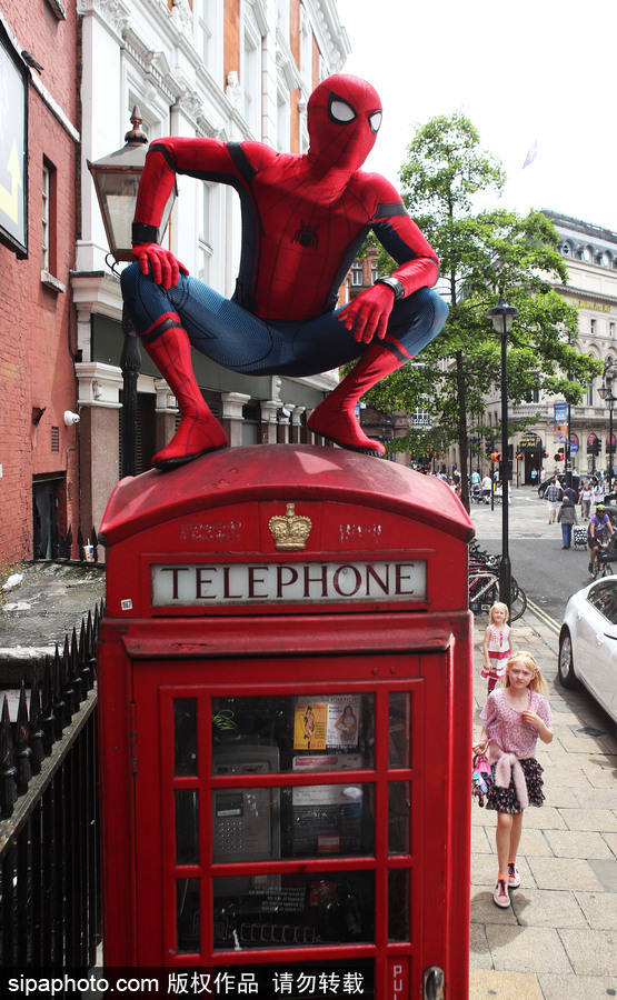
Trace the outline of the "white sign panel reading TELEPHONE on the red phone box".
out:
[[[424,601],[426,562],[151,566],[152,607],[257,601]]]

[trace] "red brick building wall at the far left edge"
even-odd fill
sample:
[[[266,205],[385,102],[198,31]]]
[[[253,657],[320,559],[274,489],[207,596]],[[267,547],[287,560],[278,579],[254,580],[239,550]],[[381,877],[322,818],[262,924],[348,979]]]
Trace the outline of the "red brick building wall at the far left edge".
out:
[[[2,0],[2,13],[18,47],[42,64],[40,81],[73,127],[78,127],[77,14],[67,3],[58,21],[46,0]],[[28,258],[0,244],[0,571],[32,556],[32,481],[61,478],[58,526],[66,534],[79,523],[77,429],[64,410],[76,411],[74,320],[69,270],[76,240],[76,141],[31,83],[28,98]],[[64,291],[41,282],[42,169],[54,179],[53,277]],[[33,417],[43,410],[40,420]],[[57,431],[53,430],[57,428]],[[77,549],[73,550],[77,553]]]

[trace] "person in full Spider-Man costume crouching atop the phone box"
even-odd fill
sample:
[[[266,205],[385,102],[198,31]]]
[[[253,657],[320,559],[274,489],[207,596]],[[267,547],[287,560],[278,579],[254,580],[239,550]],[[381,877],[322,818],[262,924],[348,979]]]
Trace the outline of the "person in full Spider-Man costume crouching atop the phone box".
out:
[[[248,374],[309,376],[359,357],[308,427],[344,448],[384,453],[359,427],[356,402],[437,336],[447,306],[430,290],[436,253],[399,194],[385,178],[360,170],[380,120],[374,88],[337,74],[309,99],[306,154],[203,138],[150,146],[133,222],[137,262],[122,272],[122,294],[180,410],[156,467],[172,468],[228,443],[195,379],[191,344]],[[176,173],[228,183],[240,194],[242,253],[231,301],[189,278],[156,242]],[[370,229],[398,268],[337,310],[339,286]]]

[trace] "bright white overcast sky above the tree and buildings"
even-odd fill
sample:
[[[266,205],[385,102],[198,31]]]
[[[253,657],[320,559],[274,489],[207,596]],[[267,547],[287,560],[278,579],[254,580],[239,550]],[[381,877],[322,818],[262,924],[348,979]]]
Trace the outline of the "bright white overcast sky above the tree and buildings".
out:
[[[372,83],[384,107],[367,170],[398,187],[416,127],[461,111],[507,176],[482,207],[553,209],[617,232],[617,0],[337,7],[351,44],[342,72]]]

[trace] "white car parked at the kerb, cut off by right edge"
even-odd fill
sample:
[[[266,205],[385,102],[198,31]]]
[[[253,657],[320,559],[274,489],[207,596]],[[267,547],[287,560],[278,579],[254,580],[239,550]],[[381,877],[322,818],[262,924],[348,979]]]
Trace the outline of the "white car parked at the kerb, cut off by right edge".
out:
[[[573,593],[559,633],[559,680],[581,681],[617,723],[617,576]]]

